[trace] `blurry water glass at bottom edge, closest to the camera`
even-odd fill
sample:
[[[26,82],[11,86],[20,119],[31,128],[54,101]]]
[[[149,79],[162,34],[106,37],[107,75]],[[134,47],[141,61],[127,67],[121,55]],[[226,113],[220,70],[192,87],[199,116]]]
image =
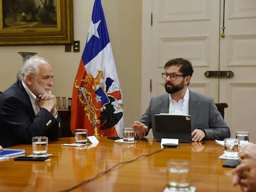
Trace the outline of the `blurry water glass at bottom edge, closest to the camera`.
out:
[[[168,191],[190,191],[190,162],[171,159],[167,168]]]

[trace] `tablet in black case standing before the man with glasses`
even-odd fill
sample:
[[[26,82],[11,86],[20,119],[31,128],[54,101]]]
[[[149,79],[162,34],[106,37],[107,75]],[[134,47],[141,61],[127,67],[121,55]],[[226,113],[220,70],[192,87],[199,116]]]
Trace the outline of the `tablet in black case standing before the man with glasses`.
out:
[[[171,138],[181,143],[192,142],[190,115],[156,114],[153,135],[157,141]]]

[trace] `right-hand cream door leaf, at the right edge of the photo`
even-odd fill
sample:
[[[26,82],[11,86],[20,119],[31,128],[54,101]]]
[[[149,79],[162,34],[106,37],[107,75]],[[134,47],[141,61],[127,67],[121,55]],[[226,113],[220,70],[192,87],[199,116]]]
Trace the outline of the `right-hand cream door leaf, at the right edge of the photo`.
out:
[[[232,136],[237,130],[246,130],[250,132],[250,141],[256,142],[256,1],[226,1],[223,19],[220,70],[234,72],[233,78],[220,79],[220,101],[229,104],[225,120]]]

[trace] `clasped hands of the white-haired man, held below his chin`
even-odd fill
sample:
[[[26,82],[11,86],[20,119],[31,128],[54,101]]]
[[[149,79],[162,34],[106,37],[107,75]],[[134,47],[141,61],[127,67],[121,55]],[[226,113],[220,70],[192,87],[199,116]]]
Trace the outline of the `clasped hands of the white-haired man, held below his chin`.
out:
[[[37,98],[37,104],[40,108],[44,108],[51,112],[53,116],[57,114],[56,96],[51,93],[42,93]]]

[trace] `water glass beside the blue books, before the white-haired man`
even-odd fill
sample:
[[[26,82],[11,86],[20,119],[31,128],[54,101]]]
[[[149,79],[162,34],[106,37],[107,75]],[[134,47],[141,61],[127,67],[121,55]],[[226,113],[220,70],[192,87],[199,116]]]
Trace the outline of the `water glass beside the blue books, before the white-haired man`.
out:
[[[45,157],[48,152],[48,137],[47,136],[33,136],[32,138],[32,152],[34,157]]]

